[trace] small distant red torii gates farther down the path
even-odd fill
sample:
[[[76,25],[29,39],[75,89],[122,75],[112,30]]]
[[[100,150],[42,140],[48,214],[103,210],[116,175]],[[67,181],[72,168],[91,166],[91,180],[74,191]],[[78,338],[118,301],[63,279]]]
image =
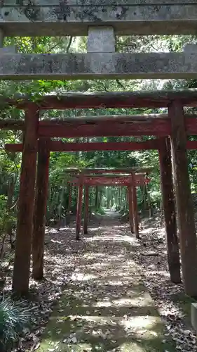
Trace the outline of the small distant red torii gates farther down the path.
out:
[[[133,168],[135,169],[135,168]],[[145,169],[145,168],[144,168]],[[70,172],[71,169],[67,169]],[[84,172],[95,172],[96,175],[86,175]],[[139,237],[139,225],[138,225],[138,213],[137,213],[137,193],[136,187],[148,183],[149,179],[146,174],[139,173],[135,174],[130,172],[130,175],[114,175],[114,172],[122,172],[122,169],[84,169],[81,171],[81,175],[75,175],[72,180],[68,183],[78,186],[78,201],[76,209],[76,239],[79,239],[79,234],[81,232],[81,212],[82,212],[82,198],[83,198],[83,186],[85,186],[85,212],[84,212],[84,223],[83,232],[88,233],[88,189],[93,186],[125,186],[128,187],[128,205],[129,205],[129,219],[130,219],[130,230],[135,232],[136,238]],[[123,170],[132,170],[132,168],[123,168]],[[141,169],[143,170],[143,168]],[[103,172],[111,172],[111,174],[104,174]],[[100,173],[100,175],[97,175]],[[69,196],[70,199],[70,196]],[[133,231],[134,230],[134,231]]]

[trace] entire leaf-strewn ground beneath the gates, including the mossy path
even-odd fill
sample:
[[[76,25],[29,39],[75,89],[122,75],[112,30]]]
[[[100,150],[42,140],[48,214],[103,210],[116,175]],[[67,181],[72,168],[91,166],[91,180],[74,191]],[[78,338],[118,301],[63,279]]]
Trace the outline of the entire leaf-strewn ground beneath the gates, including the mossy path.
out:
[[[113,211],[94,216],[81,241],[74,224],[48,229],[46,279],[31,279],[34,327],[18,351],[197,351],[192,300],[170,282],[159,220],[144,220],[140,240]]]

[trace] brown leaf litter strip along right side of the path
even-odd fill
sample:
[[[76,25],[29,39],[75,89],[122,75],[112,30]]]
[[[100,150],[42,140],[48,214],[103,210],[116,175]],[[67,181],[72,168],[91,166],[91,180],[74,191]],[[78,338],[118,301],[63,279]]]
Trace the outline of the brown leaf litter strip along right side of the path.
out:
[[[165,229],[161,227],[160,216],[144,220],[144,231],[140,241],[142,251],[144,246],[147,250],[155,249],[159,255],[159,258],[146,257],[138,251],[135,258],[139,263],[144,285],[165,322],[167,329],[165,336],[171,336],[175,341],[175,351],[197,351],[196,332],[190,324],[190,306],[194,300],[184,294],[182,284],[170,282]]]

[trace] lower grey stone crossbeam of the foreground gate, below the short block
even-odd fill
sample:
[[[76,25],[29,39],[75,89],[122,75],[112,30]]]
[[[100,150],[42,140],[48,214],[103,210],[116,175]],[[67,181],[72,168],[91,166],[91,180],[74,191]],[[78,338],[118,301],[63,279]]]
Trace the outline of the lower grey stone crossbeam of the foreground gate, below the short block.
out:
[[[154,79],[197,77],[197,53],[0,54],[0,79]]]

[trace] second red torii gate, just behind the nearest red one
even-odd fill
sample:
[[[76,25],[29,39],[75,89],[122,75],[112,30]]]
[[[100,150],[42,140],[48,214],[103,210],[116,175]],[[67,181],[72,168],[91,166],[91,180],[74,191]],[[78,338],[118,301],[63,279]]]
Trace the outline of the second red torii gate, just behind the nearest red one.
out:
[[[165,148],[164,148],[165,146]],[[187,149],[197,149],[197,141],[186,141]],[[179,250],[177,239],[177,225],[175,218],[175,203],[172,187],[172,165],[170,156],[170,140],[168,137],[160,139],[148,139],[143,142],[88,142],[88,143],[67,143],[62,141],[52,141],[48,139],[39,140],[39,161],[38,161],[38,177],[37,177],[37,195],[36,208],[34,216],[34,233],[33,233],[33,275],[35,278],[43,275],[43,263],[39,263],[38,258],[43,257],[43,236],[44,225],[43,219],[45,215],[47,186],[44,179],[48,179],[48,163],[50,151],[95,151],[95,150],[148,150],[158,149],[159,161],[161,169],[161,187],[163,196],[163,210],[165,217],[166,240],[168,244],[168,265],[172,282],[179,282]],[[22,144],[6,144],[6,151],[22,151]],[[42,165],[41,165],[42,163]],[[95,170],[102,173],[103,170]],[[123,172],[123,168],[119,172]],[[142,169],[141,169],[142,170]],[[68,169],[68,172],[78,172],[76,168]],[[93,170],[90,170],[92,172]],[[86,169],[88,172],[88,169]],[[118,170],[116,169],[116,172]],[[46,176],[45,176],[46,175]],[[40,184],[40,186],[39,186]],[[44,192],[46,196],[44,196]],[[87,194],[87,191],[86,191]],[[87,195],[85,195],[86,197]],[[69,204],[71,203],[71,194],[69,195]],[[43,204],[43,206],[42,206]],[[132,225],[131,225],[132,227]],[[177,250],[175,250],[177,248]],[[175,263],[177,263],[175,265]]]

